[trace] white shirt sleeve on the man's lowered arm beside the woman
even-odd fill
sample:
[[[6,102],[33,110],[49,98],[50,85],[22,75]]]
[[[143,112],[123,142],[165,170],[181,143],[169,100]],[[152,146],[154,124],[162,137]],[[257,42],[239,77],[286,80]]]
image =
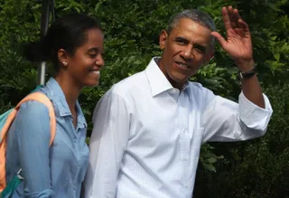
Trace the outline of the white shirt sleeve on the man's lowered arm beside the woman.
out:
[[[117,174],[129,134],[129,114],[124,99],[107,91],[93,115],[86,198],[115,197]]]

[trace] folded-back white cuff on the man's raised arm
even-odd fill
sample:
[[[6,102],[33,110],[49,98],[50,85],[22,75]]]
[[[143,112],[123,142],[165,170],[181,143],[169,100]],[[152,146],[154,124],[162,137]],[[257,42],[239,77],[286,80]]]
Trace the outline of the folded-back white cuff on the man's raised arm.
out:
[[[238,110],[240,119],[247,127],[265,131],[273,110],[265,94],[263,97],[265,108],[260,108],[248,100],[242,91],[238,97]]]

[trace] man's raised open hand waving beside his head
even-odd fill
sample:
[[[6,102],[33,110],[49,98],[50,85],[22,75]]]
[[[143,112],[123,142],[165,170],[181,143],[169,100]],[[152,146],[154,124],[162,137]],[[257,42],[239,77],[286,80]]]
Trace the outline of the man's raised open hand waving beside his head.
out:
[[[223,22],[227,40],[217,32],[212,32],[228,55],[236,61],[239,70],[247,71],[254,66],[251,35],[248,25],[241,19],[238,9],[222,7]]]

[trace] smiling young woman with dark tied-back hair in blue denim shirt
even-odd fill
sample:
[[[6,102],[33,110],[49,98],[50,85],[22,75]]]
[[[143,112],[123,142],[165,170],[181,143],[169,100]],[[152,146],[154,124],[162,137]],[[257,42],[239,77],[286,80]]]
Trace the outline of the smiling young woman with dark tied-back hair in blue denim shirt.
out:
[[[12,197],[79,198],[88,166],[85,143],[87,123],[78,97],[85,86],[97,86],[102,59],[103,33],[84,14],[67,15],[53,24],[45,37],[27,46],[29,61],[51,61],[56,74],[42,93],[53,104],[56,135],[50,146],[48,108],[25,102],[10,127],[6,150],[6,181],[22,168],[23,182]]]

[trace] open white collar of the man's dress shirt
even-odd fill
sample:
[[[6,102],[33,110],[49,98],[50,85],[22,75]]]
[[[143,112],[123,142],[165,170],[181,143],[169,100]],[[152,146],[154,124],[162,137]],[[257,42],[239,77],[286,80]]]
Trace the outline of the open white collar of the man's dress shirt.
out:
[[[167,80],[163,71],[159,68],[157,64],[158,61],[160,61],[160,57],[154,57],[145,69],[145,74],[149,81],[153,97],[166,90],[173,89],[171,82]],[[184,85],[182,90],[186,90],[188,87],[189,82]]]

